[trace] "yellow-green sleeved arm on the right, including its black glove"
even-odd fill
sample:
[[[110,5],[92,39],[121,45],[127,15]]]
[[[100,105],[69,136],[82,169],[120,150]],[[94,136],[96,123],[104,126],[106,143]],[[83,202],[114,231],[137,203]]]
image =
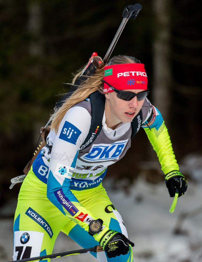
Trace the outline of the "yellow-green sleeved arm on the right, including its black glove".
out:
[[[150,104],[149,100],[147,100],[146,103],[147,102]],[[154,150],[157,152],[161,168],[165,174],[165,184],[170,196],[174,197],[175,193],[178,192],[178,197],[180,197],[187,191],[187,180],[184,175],[179,172],[179,166],[173,152],[170,136],[168,135],[168,130],[161,113],[151,104],[149,106],[147,104],[147,110],[148,114],[142,127]]]

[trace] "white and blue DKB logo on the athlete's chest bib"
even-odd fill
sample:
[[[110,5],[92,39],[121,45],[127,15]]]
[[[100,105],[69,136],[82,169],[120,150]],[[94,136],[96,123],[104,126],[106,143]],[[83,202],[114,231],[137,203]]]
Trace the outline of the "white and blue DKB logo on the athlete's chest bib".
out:
[[[113,144],[94,144],[89,153],[81,156],[83,160],[100,161],[119,159],[124,150],[127,140],[117,141]]]

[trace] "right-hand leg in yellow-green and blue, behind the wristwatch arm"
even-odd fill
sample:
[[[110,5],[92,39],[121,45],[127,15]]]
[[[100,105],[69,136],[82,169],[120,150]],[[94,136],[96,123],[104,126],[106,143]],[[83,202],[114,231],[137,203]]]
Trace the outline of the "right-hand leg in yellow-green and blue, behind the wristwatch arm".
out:
[[[121,215],[113,206],[105,189],[100,184],[93,189],[85,189],[82,191],[72,190],[77,199],[86,207],[95,217],[101,218],[110,229],[116,230],[124,234],[128,238],[127,230],[124,226]],[[68,222],[62,229],[64,233],[69,235],[75,242],[83,248],[99,245],[95,239],[89,235],[83,228],[73,221]],[[126,262],[132,261],[132,252],[127,255],[120,255],[116,258],[107,258],[105,252],[91,253],[101,262]]]

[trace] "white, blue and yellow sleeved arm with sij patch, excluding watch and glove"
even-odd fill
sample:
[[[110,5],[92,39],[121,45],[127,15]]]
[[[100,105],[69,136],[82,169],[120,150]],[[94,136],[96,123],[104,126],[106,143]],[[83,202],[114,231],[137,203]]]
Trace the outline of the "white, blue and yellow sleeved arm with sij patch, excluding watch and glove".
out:
[[[78,151],[85,140],[91,125],[91,116],[83,107],[73,107],[64,116],[53,143],[48,184],[48,199],[67,217],[86,231],[89,222],[97,219],[91,214],[70,190],[70,180],[74,172]],[[104,228],[105,227],[105,228]],[[103,226],[104,233],[109,228]],[[94,237],[99,241],[99,236]]]

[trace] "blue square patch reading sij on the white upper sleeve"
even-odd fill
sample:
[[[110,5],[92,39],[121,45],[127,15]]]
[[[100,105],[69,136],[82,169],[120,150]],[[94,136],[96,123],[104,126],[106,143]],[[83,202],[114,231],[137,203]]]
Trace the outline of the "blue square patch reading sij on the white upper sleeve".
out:
[[[75,145],[80,135],[81,131],[77,127],[75,127],[70,122],[65,121],[59,138]]]

